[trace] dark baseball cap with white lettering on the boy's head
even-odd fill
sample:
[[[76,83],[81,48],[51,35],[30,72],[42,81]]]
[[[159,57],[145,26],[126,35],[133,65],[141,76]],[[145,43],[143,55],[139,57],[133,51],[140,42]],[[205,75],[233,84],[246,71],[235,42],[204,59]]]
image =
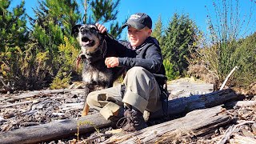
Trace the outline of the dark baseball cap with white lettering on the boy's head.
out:
[[[135,29],[142,30],[144,27],[152,28],[152,19],[150,16],[144,13],[132,14],[127,22],[122,26],[122,29],[126,26],[132,26]]]

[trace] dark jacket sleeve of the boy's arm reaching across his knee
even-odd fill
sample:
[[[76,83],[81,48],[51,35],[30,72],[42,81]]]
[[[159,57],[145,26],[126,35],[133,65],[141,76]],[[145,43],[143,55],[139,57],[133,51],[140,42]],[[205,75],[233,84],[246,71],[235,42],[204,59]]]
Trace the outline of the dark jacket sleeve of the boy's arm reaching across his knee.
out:
[[[133,67],[142,66],[151,73],[157,74],[162,66],[162,54],[161,50],[155,44],[144,47],[140,54],[136,58],[118,58],[119,66]]]

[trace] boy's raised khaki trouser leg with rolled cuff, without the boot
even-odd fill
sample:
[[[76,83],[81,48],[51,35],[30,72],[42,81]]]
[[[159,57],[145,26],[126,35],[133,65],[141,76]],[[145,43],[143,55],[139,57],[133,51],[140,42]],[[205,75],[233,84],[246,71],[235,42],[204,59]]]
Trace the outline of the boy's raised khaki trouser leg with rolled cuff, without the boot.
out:
[[[122,102],[134,106],[142,113],[144,110],[154,112],[161,108],[158,82],[148,70],[134,66],[127,71],[124,84],[126,93]]]

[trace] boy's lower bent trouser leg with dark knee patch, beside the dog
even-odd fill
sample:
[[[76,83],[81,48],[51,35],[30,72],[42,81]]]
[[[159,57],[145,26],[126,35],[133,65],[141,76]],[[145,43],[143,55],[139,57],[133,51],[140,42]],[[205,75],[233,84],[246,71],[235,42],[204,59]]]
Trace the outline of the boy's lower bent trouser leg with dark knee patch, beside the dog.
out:
[[[117,115],[123,107],[121,86],[91,92],[86,98],[86,103],[108,120],[111,116]]]

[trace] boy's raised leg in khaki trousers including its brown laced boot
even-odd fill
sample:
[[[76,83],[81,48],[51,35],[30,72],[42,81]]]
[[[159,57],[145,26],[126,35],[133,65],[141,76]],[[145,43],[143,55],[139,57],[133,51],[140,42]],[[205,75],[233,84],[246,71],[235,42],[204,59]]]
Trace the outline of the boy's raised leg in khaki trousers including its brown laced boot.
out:
[[[135,66],[127,71],[124,79],[126,93],[122,102],[129,106],[125,111],[124,131],[141,130],[146,127],[144,110],[154,112],[161,108],[160,89],[154,75],[148,70]]]

